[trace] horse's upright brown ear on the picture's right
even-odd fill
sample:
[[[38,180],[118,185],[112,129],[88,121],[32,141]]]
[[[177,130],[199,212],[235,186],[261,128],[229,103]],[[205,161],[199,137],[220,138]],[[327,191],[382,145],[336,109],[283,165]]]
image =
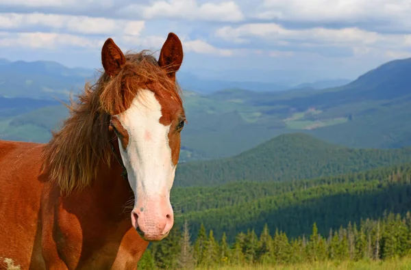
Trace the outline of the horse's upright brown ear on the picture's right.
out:
[[[175,33],[169,33],[164,42],[158,64],[166,69],[169,77],[175,79],[175,72],[179,70],[183,62],[183,46]]]

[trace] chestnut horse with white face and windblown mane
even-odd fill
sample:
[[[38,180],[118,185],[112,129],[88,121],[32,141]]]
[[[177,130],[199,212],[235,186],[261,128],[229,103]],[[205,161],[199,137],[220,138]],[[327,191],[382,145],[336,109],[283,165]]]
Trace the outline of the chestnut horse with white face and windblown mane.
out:
[[[0,269],[136,269],[167,237],[186,122],[182,42],[169,33],[153,55],[108,38],[101,75],[47,144],[0,141]]]

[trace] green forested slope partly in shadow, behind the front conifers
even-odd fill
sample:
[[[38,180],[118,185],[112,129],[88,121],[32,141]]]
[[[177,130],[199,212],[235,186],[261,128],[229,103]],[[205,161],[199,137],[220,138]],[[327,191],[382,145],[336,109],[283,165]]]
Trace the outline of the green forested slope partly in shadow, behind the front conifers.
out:
[[[290,237],[347,226],[348,221],[382,217],[384,211],[406,213],[411,207],[411,165],[381,167],[356,174],[313,180],[241,182],[219,187],[175,188],[171,199],[177,224],[184,219],[197,234],[201,224],[221,239],[264,224]]]

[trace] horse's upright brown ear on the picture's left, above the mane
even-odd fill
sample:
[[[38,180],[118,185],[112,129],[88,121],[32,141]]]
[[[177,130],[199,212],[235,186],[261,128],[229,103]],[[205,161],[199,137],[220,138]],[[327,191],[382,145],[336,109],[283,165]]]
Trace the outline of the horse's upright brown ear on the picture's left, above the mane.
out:
[[[101,62],[108,76],[113,77],[119,74],[125,64],[125,56],[111,38],[105,40],[101,49]]]

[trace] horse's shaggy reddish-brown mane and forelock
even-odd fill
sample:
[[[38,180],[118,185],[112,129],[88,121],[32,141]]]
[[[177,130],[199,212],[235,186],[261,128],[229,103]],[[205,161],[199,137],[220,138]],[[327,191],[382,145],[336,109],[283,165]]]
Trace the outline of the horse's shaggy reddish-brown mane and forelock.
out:
[[[182,103],[177,81],[166,74],[150,51],[129,52],[125,57],[127,62],[119,75],[110,78],[103,71],[94,85],[86,83],[77,102],[71,98],[71,105],[66,105],[71,116],[64,120],[60,131],[52,132],[45,145],[42,172],[48,172],[62,192],[90,185],[102,163],[110,167],[110,140],[115,139],[109,131],[110,117],[125,111],[138,90],[169,93]]]

